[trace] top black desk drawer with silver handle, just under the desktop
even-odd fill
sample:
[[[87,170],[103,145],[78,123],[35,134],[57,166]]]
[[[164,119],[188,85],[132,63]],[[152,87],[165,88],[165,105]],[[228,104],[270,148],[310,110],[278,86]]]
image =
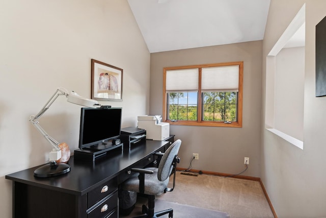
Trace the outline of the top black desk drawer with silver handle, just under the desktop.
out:
[[[87,199],[87,208],[92,207],[94,204],[105,198],[106,196],[110,195],[110,193],[118,188],[118,181],[117,179],[112,179],[107,181],[94,190],[88,192],[88,199]]]

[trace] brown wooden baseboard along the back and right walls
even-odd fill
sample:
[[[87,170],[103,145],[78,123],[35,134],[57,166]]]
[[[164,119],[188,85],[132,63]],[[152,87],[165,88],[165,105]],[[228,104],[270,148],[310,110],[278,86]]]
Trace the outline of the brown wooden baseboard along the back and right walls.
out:
[[[180,168],[180,167],[177,167],[177,171],[185,171],[185,170],[186,170],[186,168]],[[207,175],[223,176],[223,177],[229,177],[229,176],[232,176],[232,175],[233,175],[233,174],[225,174],[225,173],[216,173],[216,172],[211,172],[211,171],[200,171],[200,170],[198,170],[198,169],[191,169],[191,170],[189,170],[189,171],[187,171],[187,172],[198,173],[198,174],[202,173],[202,174],[207,174]],[[272,212],[273,215],[274,215],[274,218],[278,218],[278,216],[277,216],[277,214],[276,214],[276,212],[275,212],[275,210],[274,210],[274,207],[273,207],[273,205],[271,204],[270,199],[269,199],[269,197],[268,197],[268,195],[267,195],[267,191],[266,191],[266,189],[265,189],[265,186],[264,186],[263,182],[261,181],[261,179],[260,179],[259,177],[251,177],[251,176],[236,175],[236,176],[232,176],[232,178],[237,178],[237,179],[247,179],[247,180],[252,180],[252,181],[257,181],[257,182],[259,182],[260,185],[261,185],[261,187],[262,187],[262,189],[263,189],[263,192],[264,192],[264,194],[265,194],[265,197],[266,197],[266,199],[267,199],[267,202],[268,202],[268,204],[269,204],[269,207],[270,207],[270,209],[271,209],[271,212]]]

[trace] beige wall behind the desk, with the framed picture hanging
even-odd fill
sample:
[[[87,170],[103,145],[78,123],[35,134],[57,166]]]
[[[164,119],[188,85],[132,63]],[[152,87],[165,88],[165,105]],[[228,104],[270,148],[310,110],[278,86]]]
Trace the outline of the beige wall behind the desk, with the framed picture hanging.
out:
[[[5,175],[43,164],[51,150],[29,123],[57,87],[91,96],[91,59],[122,68],[122,126],[149,111],[150,54],[126,0],[0,2],[0,211],[12,215]],[[132,40],[131,40],[132,39]],[[64,97],[42,127],[70,150],[78,147],[80,106]]]

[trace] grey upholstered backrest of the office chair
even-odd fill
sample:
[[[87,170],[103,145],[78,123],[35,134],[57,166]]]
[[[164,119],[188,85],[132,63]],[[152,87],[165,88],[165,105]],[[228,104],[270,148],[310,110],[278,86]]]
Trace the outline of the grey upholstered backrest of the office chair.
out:
[[[181,140],[178,139],[171,144],[171,146],[167,149],[167,151],[162,156],[157,172],[157,179],[159,181],[165,181],[169,178],[172,169],[173,169],[173,160],[175,156],[178,154],[179,148],[181,146]]]

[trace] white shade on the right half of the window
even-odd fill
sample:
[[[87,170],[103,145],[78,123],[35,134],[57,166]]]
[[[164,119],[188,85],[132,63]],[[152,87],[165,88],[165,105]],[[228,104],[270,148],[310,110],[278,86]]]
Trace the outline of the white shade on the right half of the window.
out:
[[[239,66],[202,68],[203,91],[239,91]]]

